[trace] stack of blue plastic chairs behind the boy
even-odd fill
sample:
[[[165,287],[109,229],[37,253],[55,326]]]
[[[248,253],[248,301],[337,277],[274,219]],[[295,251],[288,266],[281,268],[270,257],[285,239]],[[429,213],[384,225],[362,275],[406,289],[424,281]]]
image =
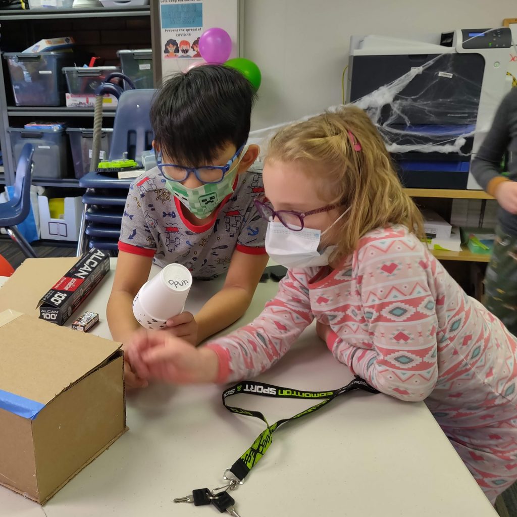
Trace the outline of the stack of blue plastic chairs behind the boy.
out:
[[[149,112],[154,89],[127,90],[120,95],[109,160],[127,158],[142,165],[143,151],[151,149],[153,129]],[[83,195],[83,219],[77,252],[88,248],[117,250],[120,224],[132,179],[118,179],[89,172],[79,180],[86,188]]]

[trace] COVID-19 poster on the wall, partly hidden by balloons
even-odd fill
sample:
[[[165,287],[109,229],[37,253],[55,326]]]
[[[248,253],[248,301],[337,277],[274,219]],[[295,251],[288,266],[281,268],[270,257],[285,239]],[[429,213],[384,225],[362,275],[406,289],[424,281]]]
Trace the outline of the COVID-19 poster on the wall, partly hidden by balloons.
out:
[[[162,75],[202,62],[199,40],[206,29],[223,28],[239,56],[239,0],[160,0]]]

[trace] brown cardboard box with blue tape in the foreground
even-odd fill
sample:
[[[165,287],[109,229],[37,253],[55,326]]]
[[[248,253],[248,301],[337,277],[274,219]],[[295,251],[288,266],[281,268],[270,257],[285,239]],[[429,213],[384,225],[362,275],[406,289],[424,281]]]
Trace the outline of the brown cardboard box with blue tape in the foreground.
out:
[[[123,355],[5,311],[0,357],[0,484],[43,504],[126,431]]]

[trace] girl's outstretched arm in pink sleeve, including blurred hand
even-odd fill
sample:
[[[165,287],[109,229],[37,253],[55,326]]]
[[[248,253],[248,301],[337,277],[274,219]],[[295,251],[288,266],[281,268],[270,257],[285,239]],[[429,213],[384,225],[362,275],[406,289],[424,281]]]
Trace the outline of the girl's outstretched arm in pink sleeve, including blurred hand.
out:
[[[267,370],[314,317],[308,279],[303,273],[297,276],[287,273],[276,298],[250,325],[206,346],[193,348],[165,332],[141,333],[128,348],[131,366],[144,379],[178,384],[225,383]]]

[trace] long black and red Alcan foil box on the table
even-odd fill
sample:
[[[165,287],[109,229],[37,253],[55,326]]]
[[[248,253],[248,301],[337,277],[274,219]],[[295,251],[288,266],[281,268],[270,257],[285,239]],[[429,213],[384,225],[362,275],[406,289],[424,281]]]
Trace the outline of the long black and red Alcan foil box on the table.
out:
[[[39,317],[63,325],[110,270],[110,257],[92,248],[41,298]]]

